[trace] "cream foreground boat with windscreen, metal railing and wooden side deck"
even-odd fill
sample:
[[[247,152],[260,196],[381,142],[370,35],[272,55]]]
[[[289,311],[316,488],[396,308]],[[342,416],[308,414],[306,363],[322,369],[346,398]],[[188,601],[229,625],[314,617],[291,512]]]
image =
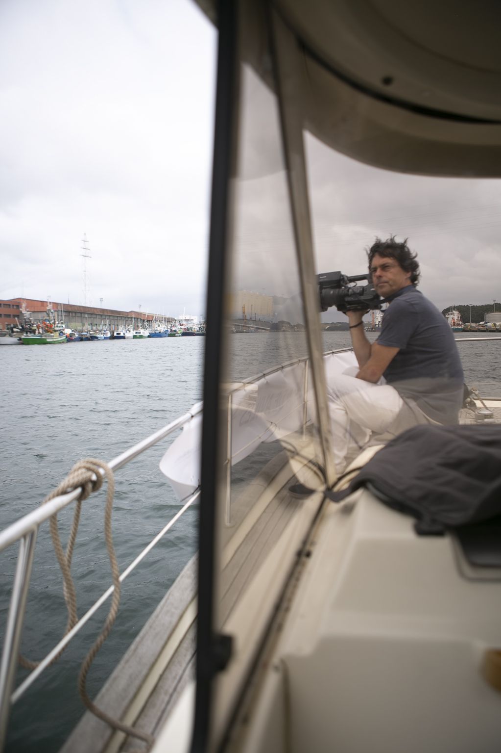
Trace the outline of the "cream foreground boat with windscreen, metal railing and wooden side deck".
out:
[[[326,382],[354,354],[322,353],[302,139],[308,127],[352,160],[402,174],[499,178],[497,68],[481,60],[499,60],[500,11],[459,2],[451,23],[437,3],[411,14],[326,0],[200,6],[219,29],[204,402],[108,464],[118,471],[182,428],[162,459],[179,509],[121,579],[197,503],[199,553],[62,751],[497,753],[499,536],[475,529],[467,546],[454,526],[430,535],[370,486],[332,502],[349,478],[332,459]],[[242,224],[255,233],[251,253],[245,233],[232,234]],[[253,364],[254,376],[233,360],[229,310],[249,264],[302,325],[263,334],[261,355],[281,357]],[[287,346],[299,337],[307,358]],[[501,394],[474,392],[460,419],[472,431],[499,423]],[[375,453],[364,447],[351,476]],[[0,534],[0,550],[20,541],[4,736],[11,703],[112,593],[117,607],[114,576],[15,687],[36,532],[78,498],[70,482]]]

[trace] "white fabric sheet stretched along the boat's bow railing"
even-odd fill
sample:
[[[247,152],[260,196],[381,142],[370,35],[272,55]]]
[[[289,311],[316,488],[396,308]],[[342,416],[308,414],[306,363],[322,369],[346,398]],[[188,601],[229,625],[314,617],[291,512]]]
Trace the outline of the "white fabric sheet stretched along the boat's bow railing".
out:
[[[332,384],[338,374],[356,366],[357,361],[350,351],[326,355],[324,364],[327,384]],[[306,395],[304,386],[304,361],[254,383],[232,386],[232,465],[253,453],[262,442],[273,442],[293,431],[302,431],[305,415],[307,422],[314,419],[311,379],[308,378]],[[199,486],[201,450],[202,414],[199,413],[184,425],[159,465],[179,499],[186,498]]]

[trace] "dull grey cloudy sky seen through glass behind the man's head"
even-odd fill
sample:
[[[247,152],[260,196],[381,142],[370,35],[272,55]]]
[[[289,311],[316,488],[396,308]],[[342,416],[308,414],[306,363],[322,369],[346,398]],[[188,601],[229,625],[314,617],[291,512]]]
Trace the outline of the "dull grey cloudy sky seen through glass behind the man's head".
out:
[[[501,181],[402,175],[306,138],[317,266],[366,269],[375,236],[408,237],[420,288],[439,309],[499,297]]]

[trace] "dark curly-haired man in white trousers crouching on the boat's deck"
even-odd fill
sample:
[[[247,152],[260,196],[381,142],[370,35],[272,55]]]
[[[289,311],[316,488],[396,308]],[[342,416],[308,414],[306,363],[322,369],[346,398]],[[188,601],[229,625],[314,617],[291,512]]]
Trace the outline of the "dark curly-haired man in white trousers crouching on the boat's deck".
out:
[[[348,316],[358,362],[354,373],[339,375],[328,387],[339,471],[369,440],[384,444],[421,423],[457,423],[463,402],[463,368],[454,335],[445,317],[417,290],[416,255],[393,236],[376,239],[367,255],[376,300],[379,296],[380,303],[389,305],[374,343],[363,327],[364,298],[369,300],[367,288],[372,291],[372,286],[358,288],[363,291],[358,306],[338,306]]]

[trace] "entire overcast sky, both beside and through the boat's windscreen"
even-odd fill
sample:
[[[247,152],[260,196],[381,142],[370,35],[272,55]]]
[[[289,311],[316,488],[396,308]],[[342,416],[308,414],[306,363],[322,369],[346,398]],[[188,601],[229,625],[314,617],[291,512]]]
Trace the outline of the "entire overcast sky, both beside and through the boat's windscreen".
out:
[[[203,311],[215,56],[189,0],[2,0],[0,297],[83,303],[87,233],[87,303]],[[244,108],[235,287],[293,296],[278,120],[250,73]],[[306,147],[317,271],[363,272],[374,236],[397,233],[440,309],[499,297],[501,181],[396,175]]]

